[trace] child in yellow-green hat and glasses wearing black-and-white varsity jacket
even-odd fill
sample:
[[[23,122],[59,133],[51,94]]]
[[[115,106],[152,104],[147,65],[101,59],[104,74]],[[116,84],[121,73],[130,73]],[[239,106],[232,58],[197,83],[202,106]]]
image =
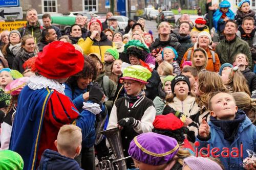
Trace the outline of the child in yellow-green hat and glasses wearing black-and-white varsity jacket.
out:
[[[123,70],[123,77],[120,78],[125,89],[124,97],[115,102],[106,129],[122,129],[124,156],[129,156],[129,144],[135,136],[153,129],[156,109],[143,90],[150,77],[150,70],[140,65],[132,65]],[[133,167],[132,162],[127,160],[127,167]]]

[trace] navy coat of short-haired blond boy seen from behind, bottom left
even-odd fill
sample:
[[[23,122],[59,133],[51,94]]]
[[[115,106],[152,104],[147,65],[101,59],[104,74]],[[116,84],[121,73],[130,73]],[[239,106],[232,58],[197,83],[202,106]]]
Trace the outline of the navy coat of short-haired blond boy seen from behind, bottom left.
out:
[[[72,158],[60,155],[56,151],[45,150],[42,153],[40,164],[37,170],[82,170],[77,161]]]

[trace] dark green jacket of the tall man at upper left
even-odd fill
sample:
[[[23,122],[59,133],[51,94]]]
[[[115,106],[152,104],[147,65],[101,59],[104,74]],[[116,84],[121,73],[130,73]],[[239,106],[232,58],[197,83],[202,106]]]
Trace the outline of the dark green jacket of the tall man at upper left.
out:
[[[40,25],[40,22],[38,21],[36,26],[30,26],[29,22],[27,22],[26,26],[18,29],[22,37],[31,34],[35,38],[35,43],[40,42],[40,40],[42,39],[42,30],[44,30],[44,28]]]

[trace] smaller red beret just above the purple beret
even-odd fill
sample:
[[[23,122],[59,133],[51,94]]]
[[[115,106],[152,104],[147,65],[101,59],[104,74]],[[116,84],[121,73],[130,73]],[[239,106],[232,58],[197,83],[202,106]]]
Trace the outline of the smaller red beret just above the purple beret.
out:
[[[155,129],[174,131],[181,129],[184,123],[173,113],[156,116],[153,126]]]

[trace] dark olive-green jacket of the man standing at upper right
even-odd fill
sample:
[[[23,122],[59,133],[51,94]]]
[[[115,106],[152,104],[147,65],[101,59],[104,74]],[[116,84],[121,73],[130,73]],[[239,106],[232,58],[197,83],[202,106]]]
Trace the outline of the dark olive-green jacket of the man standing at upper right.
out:
[[[220,41],[215,51],[220,59],[221,64],[230,63],[233,64],[234,57],[237,54],[243,53],[248,57],[249,65],[252,68],[251,52],[248,43],[241,38],[237,37],[231,41],[227,41],[226,38]]]

